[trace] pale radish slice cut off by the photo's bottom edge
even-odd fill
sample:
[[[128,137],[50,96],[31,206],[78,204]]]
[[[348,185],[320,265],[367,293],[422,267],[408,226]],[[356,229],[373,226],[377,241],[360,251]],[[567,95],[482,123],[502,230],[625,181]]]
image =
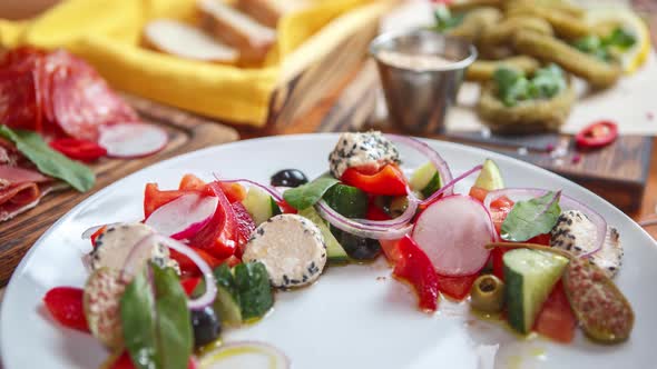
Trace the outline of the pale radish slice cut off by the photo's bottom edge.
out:
[[[271,345],[255,341],[223,345],[218,349],[204,353],[199,363],[205,369],[290,369],[290,359],[285,353]]]

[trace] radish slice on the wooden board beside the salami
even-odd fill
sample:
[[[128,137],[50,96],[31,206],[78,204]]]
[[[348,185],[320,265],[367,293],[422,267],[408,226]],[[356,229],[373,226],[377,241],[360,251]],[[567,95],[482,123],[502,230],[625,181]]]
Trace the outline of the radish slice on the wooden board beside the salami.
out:
[[[164,149],[169,141],[166,131],[147,123],[106,124],[99,131],[98,144],[115,158],[146,157]]]

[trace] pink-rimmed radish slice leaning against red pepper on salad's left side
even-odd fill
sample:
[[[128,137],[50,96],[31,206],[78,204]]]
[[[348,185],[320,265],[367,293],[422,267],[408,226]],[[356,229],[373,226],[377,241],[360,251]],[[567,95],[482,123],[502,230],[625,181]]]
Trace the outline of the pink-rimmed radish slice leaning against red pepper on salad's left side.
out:
[[[214,196],[187,193],[155,210],[145,221],[158,233],[182,240],[205,227],[217,209]]]

